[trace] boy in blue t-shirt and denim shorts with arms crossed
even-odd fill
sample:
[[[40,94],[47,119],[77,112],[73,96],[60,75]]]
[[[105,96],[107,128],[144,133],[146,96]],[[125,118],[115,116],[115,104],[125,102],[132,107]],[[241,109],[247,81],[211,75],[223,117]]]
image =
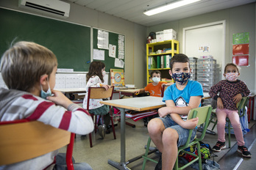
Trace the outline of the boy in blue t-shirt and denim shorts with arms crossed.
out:
[[[203,97],[202,85],[188,80],[191,73],[188,56],[174,55],[170,67],[169,74],[176,83],[166,89],[163,96],[166,107],[160,108],[159,117],[148,125],[149,136],[160,151],[155,169],[173,169],[177,148],[186,143],[190,129],[193,129],[191,141],[195,138],[198,118],[187,120],[187,115],[192,108],[201,106]]]

